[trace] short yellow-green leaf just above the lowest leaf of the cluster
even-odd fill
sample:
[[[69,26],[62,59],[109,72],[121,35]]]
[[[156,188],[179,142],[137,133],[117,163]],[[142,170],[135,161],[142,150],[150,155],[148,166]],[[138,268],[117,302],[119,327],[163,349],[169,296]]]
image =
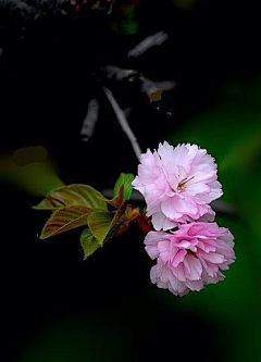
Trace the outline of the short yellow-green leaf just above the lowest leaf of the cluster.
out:
[[[95,211],[87,217],[87,224],[91,234],[97,238],[98,244],[102,245],[108,233],[113,226],[114,214],[104,211]]]

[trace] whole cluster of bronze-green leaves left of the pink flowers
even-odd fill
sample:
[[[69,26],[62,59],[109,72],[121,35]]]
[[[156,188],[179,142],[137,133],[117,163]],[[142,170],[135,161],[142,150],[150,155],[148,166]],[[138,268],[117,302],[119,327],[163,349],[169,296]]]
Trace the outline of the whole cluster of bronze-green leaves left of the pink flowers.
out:
[[[53,189],[33,207],[36,210],[51,211],[39,238],[47,239],[76,227],[84,227],[79,240],[84,259],[88,258],[110,238],[126,230],[129,222],[140,215],[139,208],[133,209],[128,203],[133,178],[133,174],[121,173],[112,199],[84,184]]]

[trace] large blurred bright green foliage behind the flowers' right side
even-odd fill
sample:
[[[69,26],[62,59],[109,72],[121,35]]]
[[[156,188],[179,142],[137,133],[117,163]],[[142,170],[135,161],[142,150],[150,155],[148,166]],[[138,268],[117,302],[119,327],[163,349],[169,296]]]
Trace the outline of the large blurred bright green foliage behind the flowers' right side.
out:
[[[214,105],[199,111],[170,135],[173,145],[197,143],[217,162],[224,200],[233,213],[216,213],[220,226],[235,237],[236,261],[226,279],[200,294],[175,300],[181,308],[200,309],[214,325],[223,321],[229,350],[225,361],[261,357],[261,82],[228,84]],[[171,297],[167,297],[172,303]],[[233,326],[233,327],[232,327]],[[222,337],[223,338],[223,337]]]

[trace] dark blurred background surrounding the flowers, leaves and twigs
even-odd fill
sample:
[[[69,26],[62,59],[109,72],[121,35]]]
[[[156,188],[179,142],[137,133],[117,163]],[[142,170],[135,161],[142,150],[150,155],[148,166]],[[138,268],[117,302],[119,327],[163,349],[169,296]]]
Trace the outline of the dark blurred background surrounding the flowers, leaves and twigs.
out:
[[[236,212],[217,212],[217,221],[235,235],[237,255],[224,282],[183,298],[150,283],[152,262],[135,226],[83,261],[77,229],[37,237],[49,213],[30,208],[44,196],[33,189],[45,177],[28,173],[24,187],[21,170],[12,173],[2,162],[3,360],[258,361],[261,55],[256,2],[116,1],[111,15],[50,12],[37,22],[3,4],[2,160],[20,148],[42,146],[65,184],[113,188],[121,172],[136,174],[137,160],[101,91],[100,70],[113,64],[153,80],[174,79],[176,88],[159,104],[137,84],[109,86],[122,108],[133,109],[129,125],[142,151],[164,139],[196,142],[221,163],[223,199]],[[169,34],[167,41],[127,59],[129,49],[159,30]],[[79,132],[94,97],[100,101],[99,121],[92,138],[83,142]]]

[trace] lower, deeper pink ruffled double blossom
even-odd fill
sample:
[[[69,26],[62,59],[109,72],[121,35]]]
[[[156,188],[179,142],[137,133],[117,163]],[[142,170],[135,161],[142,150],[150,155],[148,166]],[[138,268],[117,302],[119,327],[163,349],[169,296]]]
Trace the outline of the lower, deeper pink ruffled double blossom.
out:
[[[221,270],[236,259],[233,240],[231,232],[216,223],[194,222],[175,232],[149,232],[145,249],[151,259],[158,258],[151,282],[184,296],[224,279]]]

